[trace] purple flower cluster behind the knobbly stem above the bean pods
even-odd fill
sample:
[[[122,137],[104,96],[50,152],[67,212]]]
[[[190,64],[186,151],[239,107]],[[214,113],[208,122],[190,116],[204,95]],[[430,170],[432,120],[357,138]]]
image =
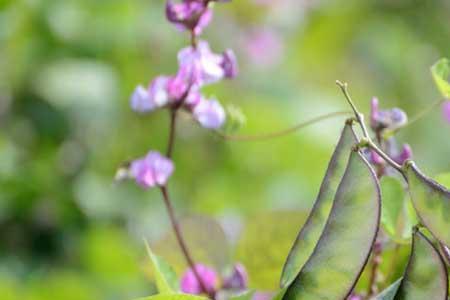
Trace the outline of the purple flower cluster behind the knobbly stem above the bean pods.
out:
[[[375,132],[382,150],[400,165],[412,158],[412,150],[408,144],[403,144],[399,149],[396,139],[390,133],[406,125],[407,122],[408,116],[403,110],[399,108],[380,110],[378,99],[372,98],[370,127]],[[378,175],[384,175],[387,171],[384,159],[373,150],[368,150],[367,156],[378,170]]]

